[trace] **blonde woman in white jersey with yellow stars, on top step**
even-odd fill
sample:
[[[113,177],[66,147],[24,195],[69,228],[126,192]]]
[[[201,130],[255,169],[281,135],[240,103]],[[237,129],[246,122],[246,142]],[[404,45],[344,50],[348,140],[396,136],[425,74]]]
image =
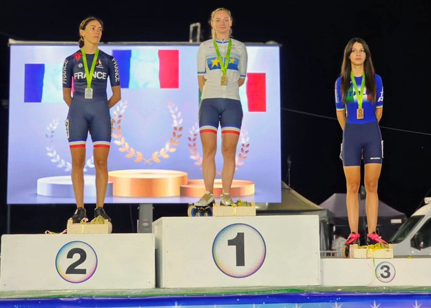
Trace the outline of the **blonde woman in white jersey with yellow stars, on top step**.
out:
[[[244,84],[247,73],[247,49],[243,42],[231,38],[230,11],[225,8],[214,10],[209,23],[212,28],[212,39],[202,42],[198,50],[198,82],[202,92],[199,130],[206,193],[195,203],[196,206],[209,206],[214,203],[215,154],[219,124],[223,155],[220,204],[234,204],[230,197],[230,187],[235,172],[236,145],[243,121],[239,87]]]

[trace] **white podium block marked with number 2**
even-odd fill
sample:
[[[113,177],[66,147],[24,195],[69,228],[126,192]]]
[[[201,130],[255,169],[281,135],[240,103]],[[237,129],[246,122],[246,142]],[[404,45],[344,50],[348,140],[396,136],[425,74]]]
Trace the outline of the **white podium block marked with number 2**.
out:
[[[155,287],[153,234],[2,236],[0,290]]]

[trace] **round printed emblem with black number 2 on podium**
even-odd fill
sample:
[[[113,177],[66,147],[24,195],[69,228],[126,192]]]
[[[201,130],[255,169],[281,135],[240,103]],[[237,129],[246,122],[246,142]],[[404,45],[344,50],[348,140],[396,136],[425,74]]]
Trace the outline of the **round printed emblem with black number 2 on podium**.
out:
[[[66,281],[80,283],[88,280],[98,265],[94,249],[87,243],[74,241],[60,248],[56,257],[56,268]]]

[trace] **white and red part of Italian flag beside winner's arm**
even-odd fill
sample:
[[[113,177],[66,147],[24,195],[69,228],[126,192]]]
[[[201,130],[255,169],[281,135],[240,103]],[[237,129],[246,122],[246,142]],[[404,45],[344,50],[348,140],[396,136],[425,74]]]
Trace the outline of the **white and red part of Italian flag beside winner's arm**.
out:
[[[266,112],[266,74],[247,73],[246,83],[240,87],[240,99],[244,110]]]

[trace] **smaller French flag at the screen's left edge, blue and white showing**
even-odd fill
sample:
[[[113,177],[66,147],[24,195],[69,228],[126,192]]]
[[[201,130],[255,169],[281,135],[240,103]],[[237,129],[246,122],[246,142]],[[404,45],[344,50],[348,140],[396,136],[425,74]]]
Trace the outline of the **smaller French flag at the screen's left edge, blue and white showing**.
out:
[[[24,103],[64,103],[62,65],[24,65]]]

